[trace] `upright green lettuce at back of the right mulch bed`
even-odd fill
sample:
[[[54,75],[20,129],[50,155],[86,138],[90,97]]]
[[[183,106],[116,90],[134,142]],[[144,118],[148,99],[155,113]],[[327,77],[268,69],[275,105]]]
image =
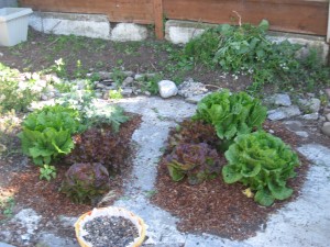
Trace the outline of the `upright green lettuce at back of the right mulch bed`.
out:
[[[212,124],[220,139],[231,141],[237,135],[261,128],[266,113],[261,101],[248,93],[222,90],[205,97],[193,119]]]

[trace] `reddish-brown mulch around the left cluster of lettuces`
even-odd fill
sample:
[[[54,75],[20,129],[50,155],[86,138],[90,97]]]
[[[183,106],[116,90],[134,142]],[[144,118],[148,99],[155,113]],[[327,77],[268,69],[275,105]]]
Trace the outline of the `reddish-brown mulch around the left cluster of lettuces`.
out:
[[[141,123],[140,115],[131,114],[131,116],[132,117],[129,122],[121,125],[120,132],[118,133],[119,136],[125,136],[127,138],[129,137],[129,141],[131,141],[133,132],[139,127]],[[130,143],[128,143],[128,145],[130,145]],[[134,155],[133,153],[130,154],[130,157],[127,157],[125,161],[128,164],[121,170],[121,175],[111,177],[111,197],[107,198],[107,203],[112,203],[116,199],[121,197],[123,180],[131,173],[130,170],[132,168],[131,160]],[[48,182],[45,180],[40,180],[38,168],[31,162],[26,169],[23,169],[21,171],[14,171],[11,175],[9,184],[2,189],[3,191],[14,191],[15,212],[19,212],[22,209],[31,207],[43,216],[41,222],[41,224],[43,225],[43,229],[46,229],[48,227],[52,228],[54,226],[56,227],[61,215],[79,216],[82,213],[90,211],[94,206],[97,205],[97,202],[95,202],[94,205],[75,204],[70,201],[69,198],[67,198],[64,193],[59,191],[62,181],[65,177],[65,172],[68,170],[68,164],[58,162],[56,165],[57,177],[56,179],[53,179]],[[3,215],[0,214],[0,218],[1,216]],[[61,231],[59,228],[59,234],[64,236],[74,237],[73,229]]]

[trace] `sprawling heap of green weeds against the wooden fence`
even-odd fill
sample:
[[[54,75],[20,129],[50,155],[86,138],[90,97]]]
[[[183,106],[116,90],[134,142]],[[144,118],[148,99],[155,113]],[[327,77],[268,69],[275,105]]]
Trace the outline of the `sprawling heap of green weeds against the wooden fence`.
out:
[[[266,36],[268,27],[266,20],[257,26],[219,25],[191,40],[180,59],[193,58],[209,67],[250,74],[253,80],[250,92],[258,92],[266,83],[272,83],[276,90],[310,91],[318,85],[330,85],[330,69],[320,64],[317,53],[311,49],[307,58],[298,58],[297,50],[301,46],[288,41],[271,41]]]

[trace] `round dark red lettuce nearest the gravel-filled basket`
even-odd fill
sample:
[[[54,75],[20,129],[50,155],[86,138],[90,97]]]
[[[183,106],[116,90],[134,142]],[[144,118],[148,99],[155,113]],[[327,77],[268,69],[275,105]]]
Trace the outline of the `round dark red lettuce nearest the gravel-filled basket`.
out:
[[[101,164],[74,164],[65,173],[61,191],[76,203],[94,200],[110,190],[110,178]]]

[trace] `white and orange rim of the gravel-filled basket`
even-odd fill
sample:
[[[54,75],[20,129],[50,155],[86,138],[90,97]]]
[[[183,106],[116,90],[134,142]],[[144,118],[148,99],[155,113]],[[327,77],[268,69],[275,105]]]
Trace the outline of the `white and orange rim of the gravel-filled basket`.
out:
[[[88,242],[86,242],[81,234],[82,234],[82,226],[88,222],[91,221],[95,217],[98,216],[122,216],[129,221],[131,221],[138,228],[139,237],[134,239],[133,243],[129,245],[129,247],[139,247],[142,245],[144,238],[145,238],[145,232],[146,226],[143,222],[143,220],[132,212],[122,209],[122,207],[116,207],[116,206],[108,206],[108,207],[100,207],[100,209],[94,209],[92,211],[89,211],[85,214],[82,214],[78,221],[75,223],[75,231],[76,231],[76,237],[78,239],[78,243],[81,247],[92,247],[92,245]]]

